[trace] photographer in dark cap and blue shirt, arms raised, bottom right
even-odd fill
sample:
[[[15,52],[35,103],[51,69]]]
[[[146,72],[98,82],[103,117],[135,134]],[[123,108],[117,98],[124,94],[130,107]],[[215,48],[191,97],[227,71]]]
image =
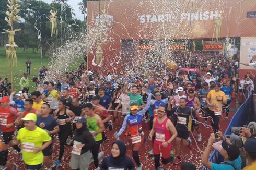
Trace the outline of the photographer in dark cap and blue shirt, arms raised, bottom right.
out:
[[[219,136],[219,137],[218,137]],[[215,142],[216,140],[223,140],[219,142]],[[216,149],[220,155],[224,157],[224,162],[220,164],[212,163],[209,160],[209,155],[212,146],[214,149]],[[242,160],[240,155],[239,148],[236,147],[234,144],[230,144],[228,141],[226,141],[226,138],[223,137],[221,132],[218,132],[217,134],[212,133],[209,140],[207,147],[204,150],[203,157],[201,160],[201,163],[206,166],[209,169],[230,169],[230,170],[238,170],[241,169]]]

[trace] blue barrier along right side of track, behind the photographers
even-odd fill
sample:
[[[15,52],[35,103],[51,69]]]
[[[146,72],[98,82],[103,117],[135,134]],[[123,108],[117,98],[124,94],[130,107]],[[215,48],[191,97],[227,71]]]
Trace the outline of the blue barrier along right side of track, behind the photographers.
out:
[[[241,107],[237,110],[237,112],[232,117],[224,135],[229,135],[231,133],[230,127],[240,127],[242,125],[247,125],[253,117],[253,95],[251,95],[245,103],[241,105]],[[209,161],[213,163],[221,163],[223,162],[223,157],[220,153],[216,150],[210,156]],[[203,167],[203,170],[208,170],[207,167]]]

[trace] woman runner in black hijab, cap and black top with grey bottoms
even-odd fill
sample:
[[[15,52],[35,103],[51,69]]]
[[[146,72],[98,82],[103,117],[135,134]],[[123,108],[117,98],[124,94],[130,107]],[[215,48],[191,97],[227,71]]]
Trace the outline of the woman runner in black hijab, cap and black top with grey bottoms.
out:
[[[72,169],[87,170],[92,161],[90,150],[94,147],[95,141],[86,127],[86,118],[78,117],[76,121],[74,144],[69,166]]]

